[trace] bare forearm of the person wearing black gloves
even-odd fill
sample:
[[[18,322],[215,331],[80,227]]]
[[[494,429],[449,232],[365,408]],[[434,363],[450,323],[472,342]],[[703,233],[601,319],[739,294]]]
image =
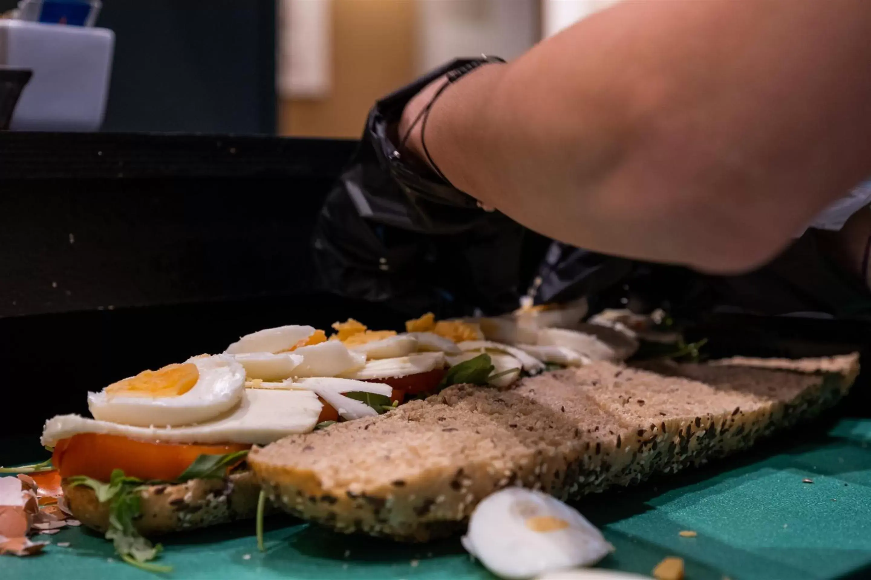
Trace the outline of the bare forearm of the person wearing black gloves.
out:
[[[740,270],[871,172],[869,20],[861,0],[628,2],[463,77],[426,142],[550,237]]]

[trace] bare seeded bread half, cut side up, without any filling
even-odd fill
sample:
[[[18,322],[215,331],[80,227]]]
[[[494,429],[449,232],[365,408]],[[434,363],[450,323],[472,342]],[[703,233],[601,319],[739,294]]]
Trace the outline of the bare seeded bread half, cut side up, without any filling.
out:
[[[296,516],[425,542],[463,530],[478,502],[510,485],[572,500],[744,450],[836,403],[858,370],[857,355],[599,362],[510,390],[456,385],[255,448],[248,463]]]

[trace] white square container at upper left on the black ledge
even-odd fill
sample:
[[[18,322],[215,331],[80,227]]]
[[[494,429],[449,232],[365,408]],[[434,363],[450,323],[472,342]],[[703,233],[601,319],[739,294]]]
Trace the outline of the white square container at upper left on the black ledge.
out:
[[[111,30],[0,20],[0,64],[33,71],[10,130],[98,130],[114,50]]]

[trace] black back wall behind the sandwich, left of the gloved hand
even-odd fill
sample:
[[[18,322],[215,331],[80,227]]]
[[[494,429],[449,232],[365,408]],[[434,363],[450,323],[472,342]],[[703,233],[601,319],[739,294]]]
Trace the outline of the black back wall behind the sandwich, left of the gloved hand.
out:
[[[310,239],[353,142],[0,134],[0,385],[37,434],[146,368],[387,307],[315,290]],[[7,407],[6,404],[3,405]]]

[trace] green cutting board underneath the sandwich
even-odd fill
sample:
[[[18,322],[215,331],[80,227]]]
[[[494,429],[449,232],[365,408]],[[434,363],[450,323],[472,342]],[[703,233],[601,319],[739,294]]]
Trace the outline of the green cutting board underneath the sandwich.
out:
[[[687,580],[871,577],[871,419],[841,419],[796,437],[579,503],[617,548],[601,565],[649,574],[672,555],[684,558]],[[492,578],[456,539],[408,546],[282,517],[267,523],[266,538],[260,553],[253,522],[167,537],[160,563],[172,565],[172,580]],[[111,543],[88,530],[39,539],[52,543],[41,556],[0,557],[0,578],[155,577],[120,563]]]

